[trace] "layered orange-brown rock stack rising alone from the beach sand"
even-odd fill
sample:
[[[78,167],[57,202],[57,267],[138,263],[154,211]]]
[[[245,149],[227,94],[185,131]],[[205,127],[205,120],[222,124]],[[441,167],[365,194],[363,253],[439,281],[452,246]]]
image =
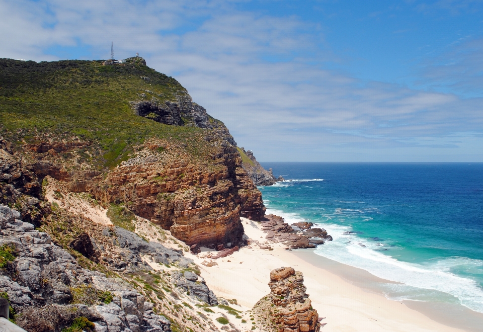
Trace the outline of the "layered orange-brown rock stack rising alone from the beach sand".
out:
[[[318,313],[312,308],[301,272],[292,268],[270,273],[270,294],[252,309],[260,330],[277,332],[316,332]]]

